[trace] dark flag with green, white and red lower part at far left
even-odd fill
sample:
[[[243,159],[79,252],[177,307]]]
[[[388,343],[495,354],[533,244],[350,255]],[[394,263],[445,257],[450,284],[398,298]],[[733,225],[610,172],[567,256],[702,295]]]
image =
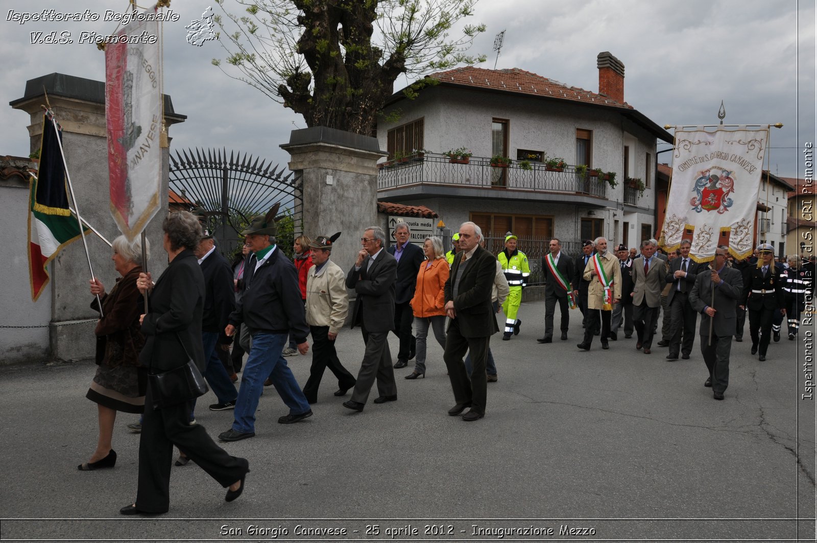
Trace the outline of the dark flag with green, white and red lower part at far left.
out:
[[[51,279],[48,263],[80,236],[77,218],[68,207],[65,164],[57,137],[54,125],[43,116],[40,168],[38,175],[31,176],[29,193],[29,280],[34,302]]]

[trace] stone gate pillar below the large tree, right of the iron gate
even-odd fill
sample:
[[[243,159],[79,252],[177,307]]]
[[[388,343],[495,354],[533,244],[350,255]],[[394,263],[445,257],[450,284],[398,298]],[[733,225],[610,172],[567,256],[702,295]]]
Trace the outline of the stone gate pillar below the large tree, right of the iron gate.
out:
[[[303,179],[304,234],[314,238],[341,231],[332,260],[348,272],[364,228],[378,223],[375,164],[386,153],[377,138],[327,127],[293,130],[281,148],[292,157],[289,169]]]

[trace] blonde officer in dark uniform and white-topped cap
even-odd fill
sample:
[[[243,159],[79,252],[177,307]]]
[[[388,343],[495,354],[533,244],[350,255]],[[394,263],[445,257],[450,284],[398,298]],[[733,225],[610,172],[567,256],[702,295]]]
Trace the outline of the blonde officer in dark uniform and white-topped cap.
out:
[[[760,351],[758,360],[766,360],[766,349],[771,339],[771,325],[775,309],[785,314],[783,281],[775,267],[775,248],[768,243],[757,246],[757,266],[749,268],[748,282],[743,285],[743,306],[749,312],[749,334],[752,336],[752,354]],[[758,335],[759,333],[759,335]]]

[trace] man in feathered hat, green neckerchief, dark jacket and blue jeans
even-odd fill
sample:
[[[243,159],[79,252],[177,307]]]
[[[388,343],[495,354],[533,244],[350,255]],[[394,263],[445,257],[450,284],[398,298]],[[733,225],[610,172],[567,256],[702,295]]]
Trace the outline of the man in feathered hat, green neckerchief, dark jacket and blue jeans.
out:
[[[225,334],[235,334],[235,326],[247,327],[252,348],[241,374],[239,397],[235,402],[233,426],[219,434],[221,441],[231,442],[255,436],[255,412],[264,388],[264,379],[272,379],[275,390],[289,407],[280,424],[291,424],[312,416],[292,370],[283,357],[287,336],[292,334],[298,352],[306,354],[309,327],[304,316],[301,288],[295,266],[275,245],[275,210],[252,219],[242,233],[252,251],[244,272],[241,301],[230,314]]]

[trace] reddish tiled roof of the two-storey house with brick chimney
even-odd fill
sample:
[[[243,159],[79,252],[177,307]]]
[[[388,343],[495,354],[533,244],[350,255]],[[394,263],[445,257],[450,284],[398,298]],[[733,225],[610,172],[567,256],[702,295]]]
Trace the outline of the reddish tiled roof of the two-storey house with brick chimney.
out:
[[[534,96],[546,96],[561,100],[579,101],[586,104],[609,105],[632,110],[627,102],[615,101],[612,98],[586,91],[583,88],[568,87],[555,79],[543,78],[541,75],[519,68],[507,70],[485,70],[465,66],[445,72],[436,72],[429,77],[440,83],[467,85],[468,87],[485,88],[498,92],[522,92]]]

